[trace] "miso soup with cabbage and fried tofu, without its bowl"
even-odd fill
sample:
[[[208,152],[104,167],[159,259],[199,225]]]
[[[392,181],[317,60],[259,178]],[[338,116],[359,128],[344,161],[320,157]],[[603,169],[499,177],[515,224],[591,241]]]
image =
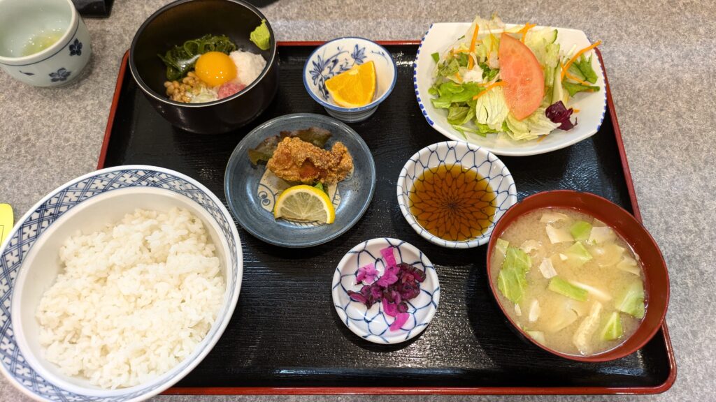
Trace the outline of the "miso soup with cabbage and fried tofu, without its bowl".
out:
[[[534,340],[590,356],[639,327],[646,310],[639,256],[594,217],[546,208],[518,217],[491,258],[498,301]]]

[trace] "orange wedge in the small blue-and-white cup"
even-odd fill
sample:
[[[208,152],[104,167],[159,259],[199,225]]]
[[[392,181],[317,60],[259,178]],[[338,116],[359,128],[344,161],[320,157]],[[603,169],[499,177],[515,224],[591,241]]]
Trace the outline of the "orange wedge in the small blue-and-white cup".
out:
[[[375,64],[358,64],[326,80],[326,89],[334,102],[342,107],[362,107],[375,96]]]

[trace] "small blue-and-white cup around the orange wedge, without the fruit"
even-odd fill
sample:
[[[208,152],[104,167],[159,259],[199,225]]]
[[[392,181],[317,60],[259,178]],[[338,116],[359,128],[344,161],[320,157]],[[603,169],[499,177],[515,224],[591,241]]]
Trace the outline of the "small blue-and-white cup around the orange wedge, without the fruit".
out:
[[[326,89],[326,80],[347,72],[357,64],[370,61],[375,64],[377,81],[373,101],[362,107],[342,107],[336,104]],[[371,117],[378,105],[392,92],[397,77],[397,67],[390,52],[374,41],[358,37],[327,41],[316,48],[304,64],[306,91],[328,114],[344,122],[361,122]]]

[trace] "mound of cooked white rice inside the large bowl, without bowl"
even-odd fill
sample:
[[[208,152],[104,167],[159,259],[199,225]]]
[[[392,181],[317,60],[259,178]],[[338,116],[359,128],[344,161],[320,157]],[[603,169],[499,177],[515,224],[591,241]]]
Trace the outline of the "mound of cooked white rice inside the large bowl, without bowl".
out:
[[[45,358],[102,388],[135,386],[189,356],[226,288],[215,246],[187,210],[135,210],[69,237],[64,270],[40,301]]]

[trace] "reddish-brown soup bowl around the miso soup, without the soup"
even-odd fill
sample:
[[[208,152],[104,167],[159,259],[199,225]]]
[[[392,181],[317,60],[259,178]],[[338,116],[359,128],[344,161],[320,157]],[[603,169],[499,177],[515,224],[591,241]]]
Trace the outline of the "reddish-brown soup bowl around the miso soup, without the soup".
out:
[[[644,270],[644,291],[646,293],[644,301],[647,303],[647,310],[642,319],[642,323],[639,324],[639,328],[637,328],[629,338],[616,346],[616,348],[589,356],[572,355],[553,350],[533,340],[531,336],[512,320],[505,310],[505,306],[500,303],[500,299],[498,298],[499,290],[495,283],[496,278],[493,278],[492,259],[490,258],[495,251],[495,243],[505,229],[518,217],[542,208],[571,209],[596,217],[596,219],[606,223],[606,225],[609,225],[619,233],[627,244],[632,247],[634,253],[639,255],[642,269]],[[487,255],[490,290],[492,290],[495,303],[497,303],[500,310],[502,310],[513,330],[516,330],[516,332],[521,335],[521,338],[534,343],[556,356],[574,361],[596,363],[612,361],[630,355],[642,348],[654,337],[667,313],[667,307],[669,305],[669,273],[657,242],[654,241],[652,235],[649,235],[647,229],[634,215],[619,207],[619,205],[614,204],[614,202],[589,192],[577,192],[572,190],[538,192],[516,203],[505,212],[505,215],[503,215],[497,222],[497,225],[495,225],[490,237],[490,242],[488,243]]]

